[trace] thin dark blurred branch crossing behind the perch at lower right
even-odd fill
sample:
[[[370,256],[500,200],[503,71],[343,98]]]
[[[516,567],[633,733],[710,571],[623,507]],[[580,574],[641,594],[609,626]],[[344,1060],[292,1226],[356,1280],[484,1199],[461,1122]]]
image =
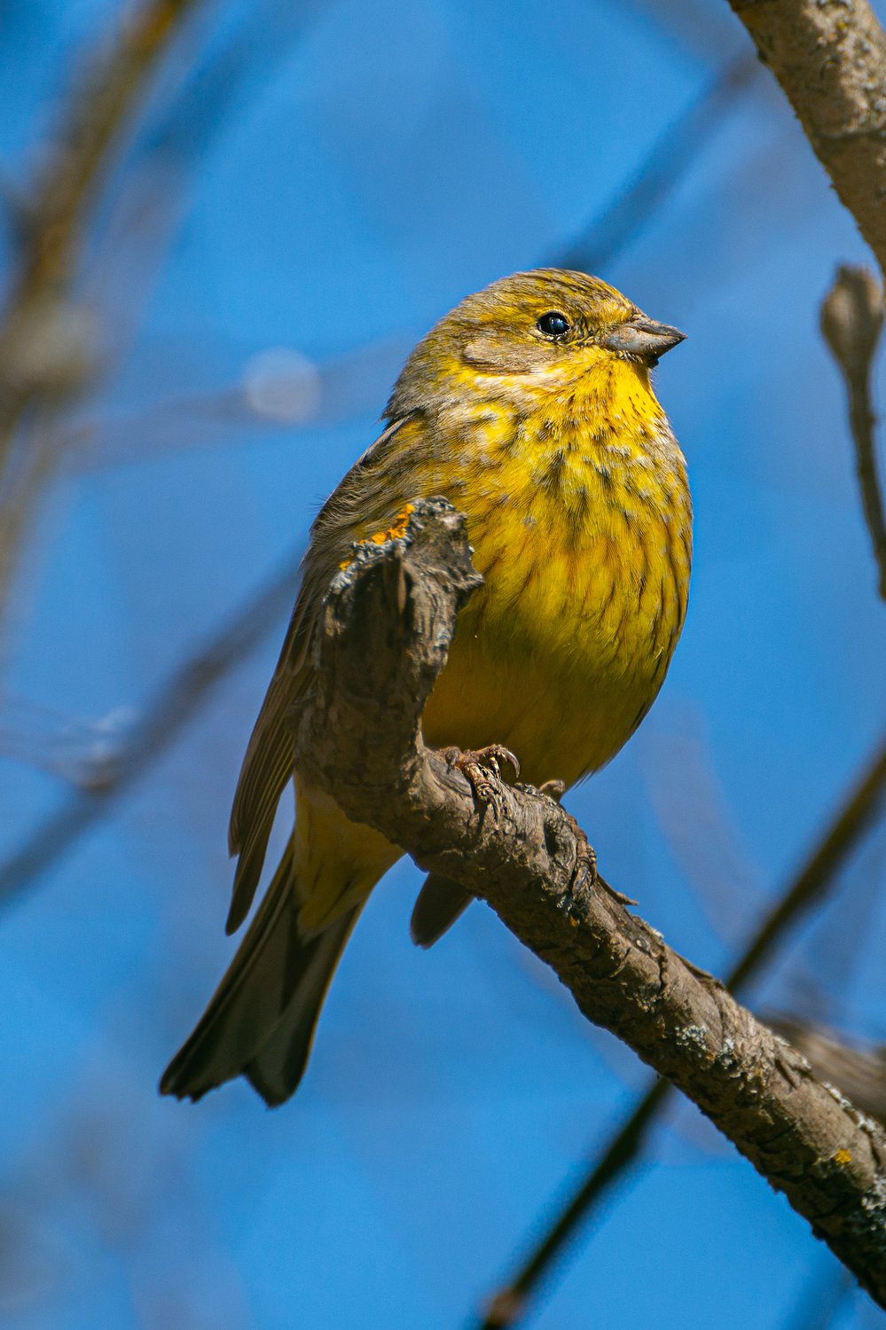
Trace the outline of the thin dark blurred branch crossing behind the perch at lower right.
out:
[[[738,991],[757,978],[801,916],[821,904],[849,855],[875,825],[885,795],[886,734],[805,864],[765,915],[726,976],[725,983],[730,992]],[[579,1226],[588,1222],[612,1182],[645,1146],[649,1128],[668,1100],[670,1089],[668,1081],[660,1080],[639,1100],[584,1181],[559,1210],[556,1218],[545,1225],[544,1237],[533,1246],[532,1254],[516,1275],[490,1298],[482,1330],[503,1330],[521,1319],[529,1295],[541,1279],[549,1275],[567,1242],[576,1237]]]

